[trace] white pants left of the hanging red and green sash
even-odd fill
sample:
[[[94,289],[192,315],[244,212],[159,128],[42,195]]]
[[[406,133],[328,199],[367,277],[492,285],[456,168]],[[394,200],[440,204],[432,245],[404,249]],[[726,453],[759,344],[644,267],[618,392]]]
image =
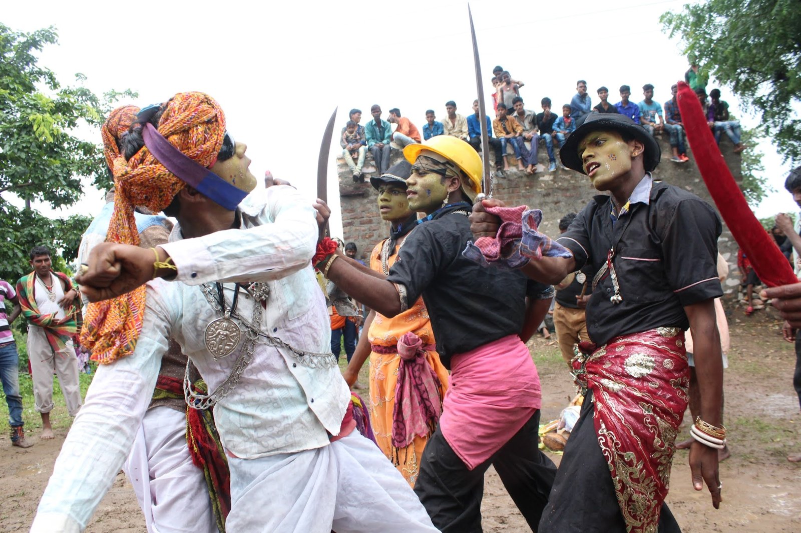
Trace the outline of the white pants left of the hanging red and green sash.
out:
[[[192,463],[186,434],[186,415],[171,407],[152,408],[123,466],[148,533],[219,533],[203,470]]]

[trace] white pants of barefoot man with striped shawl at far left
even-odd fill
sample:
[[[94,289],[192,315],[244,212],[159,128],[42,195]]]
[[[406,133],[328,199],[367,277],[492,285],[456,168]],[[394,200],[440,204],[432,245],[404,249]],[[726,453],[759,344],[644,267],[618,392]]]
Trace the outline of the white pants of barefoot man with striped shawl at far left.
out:
[[[72,341],[57,353],[47,342],[41,327],[28,327],[28,360],[34,375],[34,407],[40,413],[53,411],[53,373],[58,376],[66,411],[70,416],[81,408],[81,385],[78,381],[78,358]]]

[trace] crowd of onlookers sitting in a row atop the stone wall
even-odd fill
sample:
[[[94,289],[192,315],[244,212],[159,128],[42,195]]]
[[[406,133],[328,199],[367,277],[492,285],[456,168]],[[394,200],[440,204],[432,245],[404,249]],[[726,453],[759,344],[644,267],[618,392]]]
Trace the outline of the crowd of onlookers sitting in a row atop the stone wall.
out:
[[[697,65],[690,66],[684,78],[698,94],[715,140],[720,142],[721,135],[725,133],[735,145],[735,153],[744,150],[746,146],[741,139],[739,121],[731,119],[729,104],[720,99],[720,90],[713,89],[706,94],[706,78],[699,72]],[[509,170],[507,155],[514,156],[518,170],[534,174],[537,171],[537,150],[540,142],[548,152],[548,171],[556,170],[554,149],[562,146],[590,113],[624,114],[652,135],[666,133],[672,151],[670,160],[676,163],[689,160],[682,115],[676,101],[677,85],[670,88],[672,95],[664,106],[654,100],[654,86],[650,83],[642,86],[643,98],[636,103],[629,99],[631,87],[628,85],[620,86],[620,101],[617,103],[609,102],[610,90],[606,86],[600,86],[597,90],[599,102],[593,106],[592,97],[587,92],[587,82],[580,79],[576,82],[576,94],[570,98],[569,103],[562,105],[561,113],[552,112],[553,102],[548,97],[541,98],[541,113],[526,109],[520,94],[521,87],[525,84],[512,78],[509,71],[503,70],[501,66],[493,69],[492,85],[495,91],[492,95],[493,111],[487,112],[486,128],[489,146],[495,155],[496,175],[503,176],[503,172]],[[480,151],[481,122],[478,107],[476,100],[473,102],[473,113],[465,118],[457,113],[456,102],[445,102],[445,117],[441,120],[437,120],[434,110],[426,110],[422,133],[396,107],[389,110],[388,119],[384,120],[381,118],[381,107],[377,104],[372,106],[372,119],[364,126],[360,123],[361,110],[352,109],[348,123],[342,128],[340,145],[344,160],[352,171],[353,180],[364,180],[362,168],[368,151],[376,164],[376,171],[383,174],[389,166],[390,150],[403,149],[408,144],[422,142],[436,135],[461,138]],[[494,114],[495,118],[491,118],[490,114]]]

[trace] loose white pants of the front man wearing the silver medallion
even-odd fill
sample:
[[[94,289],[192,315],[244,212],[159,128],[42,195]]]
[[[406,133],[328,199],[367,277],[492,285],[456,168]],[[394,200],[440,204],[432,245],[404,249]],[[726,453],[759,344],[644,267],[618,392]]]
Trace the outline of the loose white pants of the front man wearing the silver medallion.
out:
[[[409,483],[358,431],[316,450],[228,459],[228,466],[227,531],[437,531]]]

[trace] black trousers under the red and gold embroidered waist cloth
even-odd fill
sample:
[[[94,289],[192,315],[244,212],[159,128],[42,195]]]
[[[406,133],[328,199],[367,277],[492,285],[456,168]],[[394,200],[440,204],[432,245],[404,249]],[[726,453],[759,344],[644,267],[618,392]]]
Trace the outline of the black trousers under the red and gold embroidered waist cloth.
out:
[[[609,466],[598,444],[593,412],[590,392],[559,463],[548,505],[542,513],[541,533],[626,532]],[[658,531],[682,531],[666,503],[662,503]]]

